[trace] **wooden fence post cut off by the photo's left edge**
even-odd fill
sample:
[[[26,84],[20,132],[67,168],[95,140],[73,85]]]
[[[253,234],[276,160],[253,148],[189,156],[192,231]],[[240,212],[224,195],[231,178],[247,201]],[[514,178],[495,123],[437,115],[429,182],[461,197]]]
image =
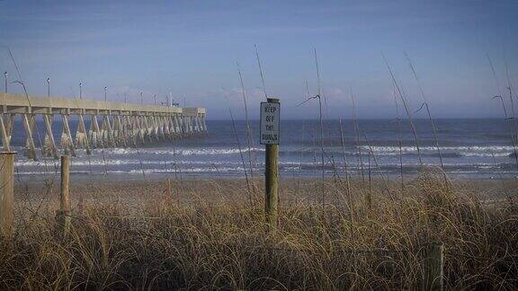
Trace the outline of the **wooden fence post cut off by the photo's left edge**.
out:
[[[15,152],[0,153],[0,237],[13,236],[14,156]]]

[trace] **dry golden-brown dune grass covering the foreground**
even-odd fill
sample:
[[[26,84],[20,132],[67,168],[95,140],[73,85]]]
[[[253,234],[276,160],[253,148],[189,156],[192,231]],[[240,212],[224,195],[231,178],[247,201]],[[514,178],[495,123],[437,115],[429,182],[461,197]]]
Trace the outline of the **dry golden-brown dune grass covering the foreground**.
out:
[[[369,204],[361,180],[351,198],[328,180],[324,208],[314,182],[282,182],[271,233],[261,187],[250,205],[242,180],[177,181],[177,197],[157,181],[73,185],[66,239],[56,195],[36,211],[21,187],[16,234],[0,242],[0,289],[419,289],[421,252],[438,241],[445,287],[518,287],[515,182],[451,187],[422,174],[405,191],[389,181],[389,197],[374,181]]]

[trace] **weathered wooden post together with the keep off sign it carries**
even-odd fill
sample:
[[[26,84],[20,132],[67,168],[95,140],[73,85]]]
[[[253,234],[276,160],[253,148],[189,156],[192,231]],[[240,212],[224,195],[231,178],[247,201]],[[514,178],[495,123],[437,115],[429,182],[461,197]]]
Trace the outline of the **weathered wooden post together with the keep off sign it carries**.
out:
[[[279,123],[281,103],[279,99],[268,98],[261,102],[261,144],[266,145],[264,162],[265,195],[264,212],[269,228],[279,224]]]

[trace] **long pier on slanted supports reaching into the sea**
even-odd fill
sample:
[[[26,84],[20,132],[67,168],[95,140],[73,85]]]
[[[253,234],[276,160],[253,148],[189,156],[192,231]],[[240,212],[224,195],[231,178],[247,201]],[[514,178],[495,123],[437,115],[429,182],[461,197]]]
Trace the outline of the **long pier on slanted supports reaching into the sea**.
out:
[[[0,105],[3,151],[11,151],[14,119],[19,115],[26,137],[24,154],[31,159],[37,159],[39,145],[41,154],[58,159],[58,151],[75,155],[77,148],[83,148],[90,154],[93,148],[137,147],[207,133],[203,108],[27,97],[11,93],[0,93]],[[41,136],[35,133],[38,115],[45,124],[45,133]],[[59,148],[52,133],[55,115],[62,121]],[[69,119],[74,115],[77,127],[70,128]]]

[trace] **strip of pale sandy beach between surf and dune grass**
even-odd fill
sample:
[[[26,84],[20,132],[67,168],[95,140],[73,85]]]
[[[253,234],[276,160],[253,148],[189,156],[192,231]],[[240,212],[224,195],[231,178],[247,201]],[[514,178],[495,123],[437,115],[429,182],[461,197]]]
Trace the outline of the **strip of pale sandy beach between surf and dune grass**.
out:
[[[78,203],[84,199],[85,202],[104,203],[114,200],[128,200],[134,202],[157,201],[170,199],[180,203],[191,203],[192,201],[205,200],[234,200],[236,202],[248,198],[248,187],[245,178],[208,178],[208,177],[188,177],[182,180],[169,178],[170,191],[167,192],[166,178],[143,178],[142,176],[133,177],[106,177],[96,176],[88,178],[85,176],[72,176],[70,181],[70,197],[73,203]],[[405,191],[414,194],[419,184],[419,178],[405,180]],[[40,199],[53,201],[58,200],[59,177],[49,176],[47,179],[29,180],[20,179],[15,183],[15,199]],[[335,196],[336,185],[344,185],[344,178],[326,178],[325,191],[329,197]],[[371,179],[371,189],[379,192],[384,189],[384,183],[395,192],[401,191],[400,181],[390,179],[381,181],[379,178]],[[255,198],[263,195],[264,180],[255,178],[249,181],[250,188],[254,190]],[[355,177],[350,180],[354,190],[363,193],[369,189],[369,181],[362,181]],[[454,190],[477,198],[487,200],[498,200],[509,195],[514,195],[518,191],[518,181],[510,179],[455,179],[451,181]],[[322,180],[308,177],[281,179],[280,199],[281,202],[290,204],[296,202],[315,203],[319,201],[322,192]]]

